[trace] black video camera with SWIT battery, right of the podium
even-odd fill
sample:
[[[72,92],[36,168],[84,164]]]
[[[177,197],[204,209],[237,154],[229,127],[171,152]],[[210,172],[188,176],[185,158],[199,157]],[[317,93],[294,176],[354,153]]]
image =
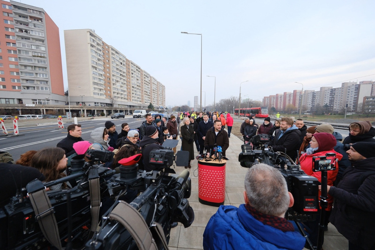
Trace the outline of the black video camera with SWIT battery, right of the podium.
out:
[[[289,160],[286,154],[274,153],[264,146],[268,135],[255,135],[251,138],[255,147],[261,150],[252,150],[251,145],[242,145],[239,162],[245,168],[254,164],[265,163],[278,168],[287,181],[288,190],[294,198],[294,205],[288,210],[289,220],[314,220],[318,213],[318,185],[317,178],[306,175],[299,165]],[[286,167],[286,168],[285,168]]]

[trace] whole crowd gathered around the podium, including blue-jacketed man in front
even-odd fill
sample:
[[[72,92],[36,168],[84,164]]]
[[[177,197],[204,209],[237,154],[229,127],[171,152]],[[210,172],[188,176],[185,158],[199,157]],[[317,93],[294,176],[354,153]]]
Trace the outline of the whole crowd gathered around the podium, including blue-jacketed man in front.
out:
[[[67,128],[68,135],[57,147],[30,150],[16,162],[9,159],[0,163],[3,178],[7,179],[2,185],[13,187],[10,192],[1,192],[0,202],[5,204],[28,181],[37,178],[48,182],[65,177],[69,174],[67,168],[71,160],[89,149],[114,152],[111,162],[103,162],[112,169],[120,166],[119,160],[142,154],[139,169],[151,171],[155,167],[149,163],[150,151],[163,149],[165,140],[180,139],[180,150],[189,152],[189,164],[185,168],[192,168],[195,152],[203,155],[213,145],[221,146],[225,156],[233,123],[229,113],[181,112],[169,119],[146,114],[139,128],[130,128],[128,123],[123,123],[120,132],[112,121],[106,121],[103,127],[92,131],[90,142],[81,138],[81,125],[72,124]],[[240,126],[245,144],[251,144],[255,135],[269,135],[268,150],[286,152],[307,175],[316,177],[319,182],[322,177],[321,172],[313,171],[314,157],[334,153],[332,164],[336,169],[328,171],[327,176],[328,206],[324,230],[332,223],[349,240],[350,250],[375,249],[375,239],[371,237],[375,235],[375,128],[369,121],[358,121],[351,123],[349,130],[349,136],[341,142],[342,135],[330,124],[307,127],[302,119],[294,121],[280,115],[274,123],[267,117],[262,124],[257,124],[255,116],[251,115],[245,117]],[[177,148],[173,151],[177,153]],[[6,153],[3,154],[1,159],[8,159]],[[12,171],[24,174],[20,177]],[[69,183],[61,183],[49,190],[69,187]],[[220,207],[211,217],[204,232],[204,249],[303,248],[305,238],[294,231],[293,223],[284,219],[294,200],[279,171],[263,164],[250,168],[245,178],[244,200],[245,204],[238,208]],[[314,246],[317,246],[319,221],[318,217],[305,223]]]

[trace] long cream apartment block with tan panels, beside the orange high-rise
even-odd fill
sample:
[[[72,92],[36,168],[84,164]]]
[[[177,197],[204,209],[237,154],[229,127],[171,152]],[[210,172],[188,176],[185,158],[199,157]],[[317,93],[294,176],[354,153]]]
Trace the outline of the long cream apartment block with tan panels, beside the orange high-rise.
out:
[[[64,30],[70,101],[123,109],[165,108],[165,86],[95,30]]]

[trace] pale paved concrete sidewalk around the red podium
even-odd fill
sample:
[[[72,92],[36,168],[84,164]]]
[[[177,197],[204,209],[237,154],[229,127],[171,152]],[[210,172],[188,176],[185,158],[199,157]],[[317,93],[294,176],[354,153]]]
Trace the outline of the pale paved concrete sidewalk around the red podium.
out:
[[[226,190],[225,190],[225,204],[238,207],[244,203],[243,190],[245,174],[247,168],[240,166],[238,162],[238,154],[241,152],[241,145],[243,141],[231,134],[229,138],[229,148],[226,150],[226,157],[229,161],[226,162]],[[178,140],[177,148],[181,147],[181,140]],[[194,146],[195,148],[195,146]],[[196,153],[198,155],[198,153]],[[208,220],[216,213],[217,207],[203,205],[198,201],[198,162],[193,160],[192,168],[190,169],[190,178],[192,180],[192,192],[189,198],[189,204],[195,213],[195,220],[189,228],[184,228],[181,223],[172,228],[171,238],[169,240],[169,249],[203,249],[203,232]],[[184,167],[176,167],[175,171],[180,174]],[[328,231],[324,232],[324,250],[347,250],[348,241],[345,239],[336,228],[329,224]]]

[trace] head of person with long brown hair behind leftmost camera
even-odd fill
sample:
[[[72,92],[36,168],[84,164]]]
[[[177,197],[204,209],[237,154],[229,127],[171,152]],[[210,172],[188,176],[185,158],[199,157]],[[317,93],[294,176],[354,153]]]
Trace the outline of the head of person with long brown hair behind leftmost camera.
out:
[[[38,169],[45,176],[45,182],[48,182],[65,177],[67,163],[68,158],[66,158],[65,151],[62,148],[43,148],[34,154],[30,166]],[[49,187],[49,189],[66,187],[66,183],[60,183]]]

